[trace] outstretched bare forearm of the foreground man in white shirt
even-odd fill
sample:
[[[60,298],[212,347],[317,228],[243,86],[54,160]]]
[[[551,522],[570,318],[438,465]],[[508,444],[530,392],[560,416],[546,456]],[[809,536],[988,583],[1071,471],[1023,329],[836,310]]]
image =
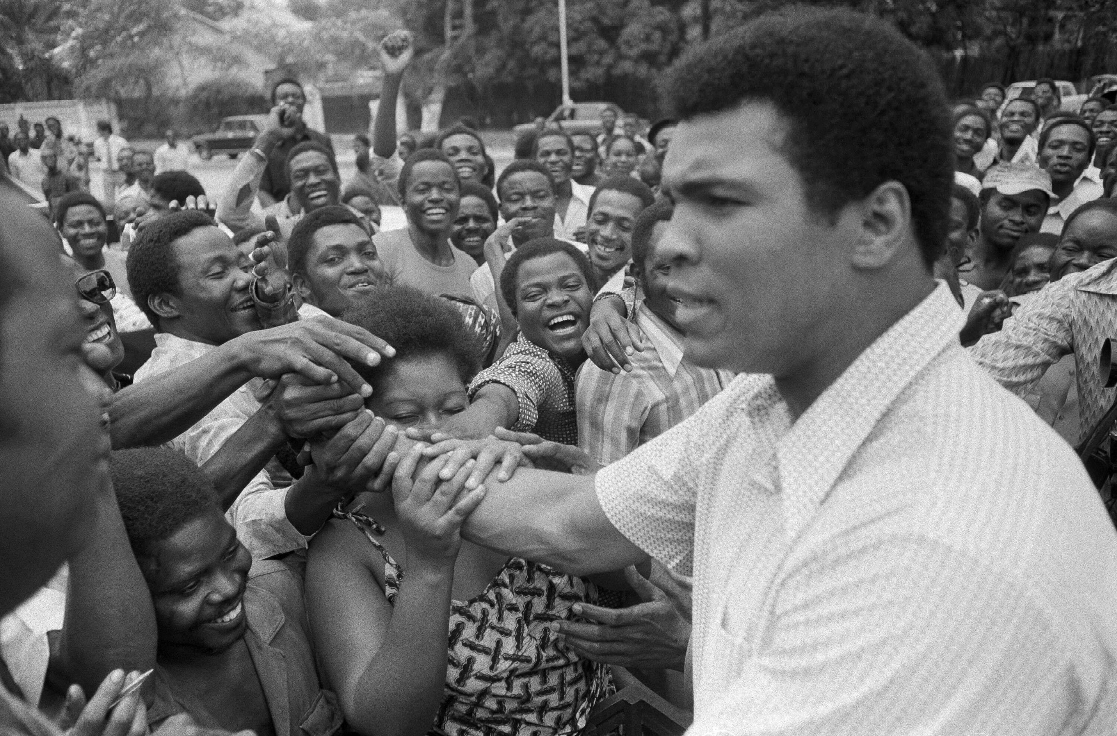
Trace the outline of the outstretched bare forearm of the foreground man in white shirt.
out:
[[[595,476],[519,468],[502,482],[498,472],[485,479],[488,493],[462,524],[464,538],[579,576],[647,558],[609,522],[594,491]]]

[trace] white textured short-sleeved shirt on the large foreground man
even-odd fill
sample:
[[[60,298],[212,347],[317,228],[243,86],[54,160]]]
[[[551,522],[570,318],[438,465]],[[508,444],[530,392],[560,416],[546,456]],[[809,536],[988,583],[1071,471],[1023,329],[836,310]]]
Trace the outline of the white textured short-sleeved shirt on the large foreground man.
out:
[[[707,734],[1110,734],[1117,534],[939,285],[798,421],[766,375],[596,476],[694,574]]]

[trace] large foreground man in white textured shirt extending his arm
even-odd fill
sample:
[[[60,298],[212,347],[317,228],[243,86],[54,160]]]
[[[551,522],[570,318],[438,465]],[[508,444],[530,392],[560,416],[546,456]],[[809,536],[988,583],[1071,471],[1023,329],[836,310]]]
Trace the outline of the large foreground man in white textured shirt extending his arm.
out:
[[[595,475],[494,472],[462,536],[693,572],[694,735],[1111,733],[1117,533],[958,345],[929,60],[798,10],[691,49],[665,89],[668,295],[688,360],[742,375]]]

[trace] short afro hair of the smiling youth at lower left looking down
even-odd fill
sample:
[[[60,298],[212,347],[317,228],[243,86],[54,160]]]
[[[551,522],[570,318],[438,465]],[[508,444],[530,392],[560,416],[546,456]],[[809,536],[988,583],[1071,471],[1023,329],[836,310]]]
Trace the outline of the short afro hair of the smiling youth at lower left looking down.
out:
[[[117,450],[109,461],[113,490],[132,551],[149,556],[207,510],[220,510],[213,482],[181,452],[165,447]]]

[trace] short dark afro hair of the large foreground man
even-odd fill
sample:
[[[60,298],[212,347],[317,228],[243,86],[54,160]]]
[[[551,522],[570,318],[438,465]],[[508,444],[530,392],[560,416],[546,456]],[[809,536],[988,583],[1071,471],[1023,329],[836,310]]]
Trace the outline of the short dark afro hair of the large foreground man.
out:
[[[774,105],[787,123],[783,153],[823,216],[898,181],[924,262],[935,262],[954,181],[949,107],[932,61],[887,22],[851,10],[766,13],[686,52],[662,92],[684,122]]]

